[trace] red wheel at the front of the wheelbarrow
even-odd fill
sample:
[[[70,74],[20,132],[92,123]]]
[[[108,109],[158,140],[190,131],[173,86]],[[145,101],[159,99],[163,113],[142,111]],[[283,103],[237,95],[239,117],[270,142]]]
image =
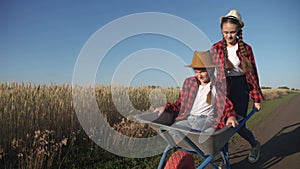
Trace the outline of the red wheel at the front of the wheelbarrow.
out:
[[[171,155],[165,169],[195,169],[195,162],[192,154],[186,151],[176,151]]]

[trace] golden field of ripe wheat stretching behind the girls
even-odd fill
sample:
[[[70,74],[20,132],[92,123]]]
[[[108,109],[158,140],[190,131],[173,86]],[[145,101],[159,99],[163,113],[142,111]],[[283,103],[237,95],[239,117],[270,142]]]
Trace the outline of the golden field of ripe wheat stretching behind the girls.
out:
[[[85,90],[85,87],[80,90]],[[100,112],[111,127],[132,137],[153,135],[153,131],[147,125],[130,121],[117,113],[116,104],[123,105],[122,111],[143,112],[165,102],[174,102],[179,94],[179,88],[153,86],[99,85],[92,90],[96,93]],[[117,92],[112,94],[112,90]],[[289,92],[263,90],[266,99],[275,99]],[[159,99],[162,93],[165,100]],[[123,99],[128,96],[129,99]],[[149,96],[158,101],[151,102]],[[57,168],[78,144],[95,148],[82,130],[73,104],[72,86],[67,84],[0,83],[0,168]],[[128,107],[129,104],[133,107]]]

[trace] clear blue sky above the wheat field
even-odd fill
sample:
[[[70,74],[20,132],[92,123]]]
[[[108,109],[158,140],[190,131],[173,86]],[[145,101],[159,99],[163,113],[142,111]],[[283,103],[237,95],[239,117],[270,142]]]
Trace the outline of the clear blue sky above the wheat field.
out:
[[[178,16],[195,25],[214,43],[222,38],[219,17],[230,9],[237,9],[245,22],[243,36],[253,48],[261,86],[300,89],[297,0],[1,1],[0,81],[72,83],[78,56],[91,36],[108,23],[135,13]],[[112,32],[118,33],[118,29]],[[108,40],[103,39],[103,43]],[[165,36],[134,36],[118,43],[105,56],[98,66],[96,83],[112,83],[124,58],[149,48],[170,51],[186,64],[190,64],[193,50],[197,50]],[[180,86],[176,78],[155,69],[138,72],[130,84]]]

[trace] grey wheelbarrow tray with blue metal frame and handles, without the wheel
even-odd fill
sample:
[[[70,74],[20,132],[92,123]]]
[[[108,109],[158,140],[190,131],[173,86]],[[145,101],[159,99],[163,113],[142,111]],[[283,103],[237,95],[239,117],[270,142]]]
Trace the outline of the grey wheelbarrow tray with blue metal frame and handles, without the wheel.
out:
[[[239,118],[239,125],[235,128],[226,126],[220,130],[215,131],[212,134],[205,135],[205,133],[193,130],[184,129],[176,125],[167,126],[159,123],[153,123],[147,121],[143,115],[137,118],[145,123],[148,123],[153,129],[162,134],[162,137],[168,142],[165,148],[158,169],[162,169],[166,164],[167,154],[170,150],[183,150],[189,153],[197,154],[204,159],[197,169],[203,169],[208,164],[213,168],[218,167],[212,162],[212,160],[220,153],[227,168],[230,168],[230,162],[228,157],[228,141],[230,138],[257,112],[256,108],[253,108],[245,118]],[[174,136],[179,137],[180,143],[176,143]],[[199,143],[199,137],[205,137],[205,142]],[[184,145],[184,146],[182,146]]]

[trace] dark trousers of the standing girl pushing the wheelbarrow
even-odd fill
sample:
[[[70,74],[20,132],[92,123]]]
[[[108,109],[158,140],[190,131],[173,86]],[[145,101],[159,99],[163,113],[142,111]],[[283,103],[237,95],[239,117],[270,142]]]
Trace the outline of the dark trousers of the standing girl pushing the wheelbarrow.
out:
[[[228,98],[234,105],[236,113],[242,117],[246,117],[249,104],[249,89],[245,76],[227,77]],[[253,133],[246,128],[246,124],[242,126],[238,134],[247,140],[251,146],[256,145]]]

